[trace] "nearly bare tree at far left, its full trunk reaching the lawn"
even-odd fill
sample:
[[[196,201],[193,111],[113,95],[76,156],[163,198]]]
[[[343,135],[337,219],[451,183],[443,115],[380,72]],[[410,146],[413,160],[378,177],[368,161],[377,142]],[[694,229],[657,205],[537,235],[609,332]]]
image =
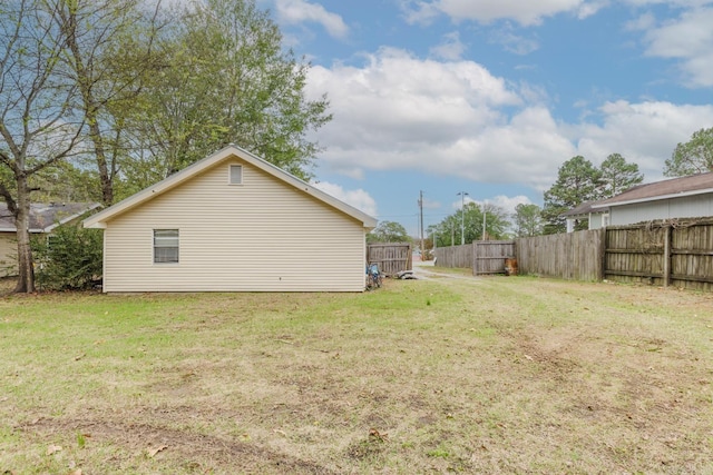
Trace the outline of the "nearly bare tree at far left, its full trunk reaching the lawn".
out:
[[[0,6],[0,166],[9,170],[0,174],[0,196],[17,228],[19,293],[35,291],[30,179],[68,157],[82,127],[71,118],[77,88],[60,68],[65,38],[46,7],[41,0]]]

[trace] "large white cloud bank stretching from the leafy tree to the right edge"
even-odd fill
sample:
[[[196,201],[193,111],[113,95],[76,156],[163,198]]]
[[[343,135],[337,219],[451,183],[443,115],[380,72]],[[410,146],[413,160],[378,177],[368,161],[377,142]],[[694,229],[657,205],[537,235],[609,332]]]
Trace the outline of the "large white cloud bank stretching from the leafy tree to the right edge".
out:
[[[322,167],[362,178],[416,170],[544,190],[575,155],[622,154],[647,179],[676,144],[713,126],[713,106],[606,102],[580,123],[553,118],[544,92],[508,85],[472,61],[422,60],[395,49],[362,67],[314,67],[307,92],[328,92],[334,120],[319,132]]]

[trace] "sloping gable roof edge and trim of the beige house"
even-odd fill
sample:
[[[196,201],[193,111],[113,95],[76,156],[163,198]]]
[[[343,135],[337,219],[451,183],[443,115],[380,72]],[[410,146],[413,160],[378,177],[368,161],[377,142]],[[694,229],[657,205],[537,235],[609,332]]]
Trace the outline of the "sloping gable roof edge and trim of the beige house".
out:
[[[184,168],[183,170],[169,176],[168,178],[126,198],[123,201],[117,202],[114,206],[98,212],[94,216],[84,220],[84,226],[86,228],[106,228],[107,221],[111,218],[129,211],[137,206],[143,205],[146,201],[149,201],[157,196],[163,195],[164,192],[172,190],[185,181],[192,179],[198,174],[217,166],[226,160],[232,158],[238,158],[255,168],[273,176],[274,178],[283,181],[284,184],[292,186],[300,191],[309,195],[311,197],[316,198],[318,200],[324,202],[325,205],[334,208],[358,221],[361,221],[364,228],[371,230],[377,227],[377,219],[367,215],[365,212],[346,205],[345,202],[334,198],[333,196],[315,188],[314,186],[307,184],[306,181],[301,180],[300,178],[282,170],[279,167],[270,164],[268,161],[263,160],[262,158],[237,147],[234,145],[229,145],[213,155],[207,156],[206,158],[196,161],[195,164]]]

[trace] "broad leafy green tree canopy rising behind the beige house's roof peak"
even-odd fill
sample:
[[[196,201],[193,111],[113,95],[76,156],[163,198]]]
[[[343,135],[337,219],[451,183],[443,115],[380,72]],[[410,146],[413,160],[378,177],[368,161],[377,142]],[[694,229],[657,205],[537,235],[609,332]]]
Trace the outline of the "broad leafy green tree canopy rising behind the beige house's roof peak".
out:
[[[128,181],[143,188],[228,144],[311,178],[320,147],[307,132],[331,120],[329,102],[305,98],[310,65],[283,50],[255,0],[194,2],[160,48],[167,66],[134,118],[150,147],[126,170]]]

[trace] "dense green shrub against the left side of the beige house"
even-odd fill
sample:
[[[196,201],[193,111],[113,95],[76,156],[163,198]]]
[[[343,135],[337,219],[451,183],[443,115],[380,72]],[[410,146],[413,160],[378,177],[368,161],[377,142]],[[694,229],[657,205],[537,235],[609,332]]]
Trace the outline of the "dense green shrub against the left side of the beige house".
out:
[[[40,289],[86,289],[101,278],[102,232],[74,225],[32,239],[35,276]]]

